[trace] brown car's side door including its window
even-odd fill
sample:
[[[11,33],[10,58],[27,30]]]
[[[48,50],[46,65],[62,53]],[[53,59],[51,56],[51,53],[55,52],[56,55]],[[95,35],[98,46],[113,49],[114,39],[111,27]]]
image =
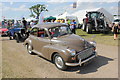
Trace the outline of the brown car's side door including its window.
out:
[[[38,43],[36,43],[36,50],[40,52],[42,56],[47,57],[49,52],[48,46],[50,45],[50,38],[48,36],[48,32],[45,29],[38,30],[37,41]]]

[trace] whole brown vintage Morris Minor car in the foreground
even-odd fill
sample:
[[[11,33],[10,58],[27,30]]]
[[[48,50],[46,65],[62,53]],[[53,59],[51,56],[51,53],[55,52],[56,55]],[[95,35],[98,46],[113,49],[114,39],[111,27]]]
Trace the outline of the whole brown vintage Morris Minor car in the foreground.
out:
[[[82,65],[97,56],[94,42],[88,42],[71,32],[66,24],[35,25],[24,45],[29,54],[36,53],[54,62],[60,70]]]

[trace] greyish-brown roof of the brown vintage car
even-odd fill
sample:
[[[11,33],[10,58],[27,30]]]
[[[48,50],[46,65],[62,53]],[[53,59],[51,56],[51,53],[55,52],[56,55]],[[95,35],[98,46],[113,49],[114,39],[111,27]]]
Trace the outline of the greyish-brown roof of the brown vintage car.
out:
[[[34,25],[33,28],[51,28],[51,27],[57,27],[57,26],[67,26],[65,23],[42,23]]]

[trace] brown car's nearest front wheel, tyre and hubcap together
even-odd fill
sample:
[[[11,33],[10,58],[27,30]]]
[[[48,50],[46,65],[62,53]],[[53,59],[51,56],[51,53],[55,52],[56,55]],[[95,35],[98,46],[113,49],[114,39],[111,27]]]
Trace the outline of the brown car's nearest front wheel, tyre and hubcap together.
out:
[[[60,70],[67,69],[67,66],[65,65],[63,58],[59,54],[54,55],[54,64]]]

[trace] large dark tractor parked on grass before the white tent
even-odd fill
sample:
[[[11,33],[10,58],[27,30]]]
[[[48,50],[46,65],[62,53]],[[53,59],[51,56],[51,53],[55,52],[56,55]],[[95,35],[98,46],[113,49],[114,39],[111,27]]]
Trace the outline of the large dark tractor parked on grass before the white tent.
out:
[[[88,34],[92,34],[93,30],[108,33],[110,28],[108,26],[108,22],[105,19],[105,15],[101,12],[87,12],[86,18],[83,19],[82,29]]]

